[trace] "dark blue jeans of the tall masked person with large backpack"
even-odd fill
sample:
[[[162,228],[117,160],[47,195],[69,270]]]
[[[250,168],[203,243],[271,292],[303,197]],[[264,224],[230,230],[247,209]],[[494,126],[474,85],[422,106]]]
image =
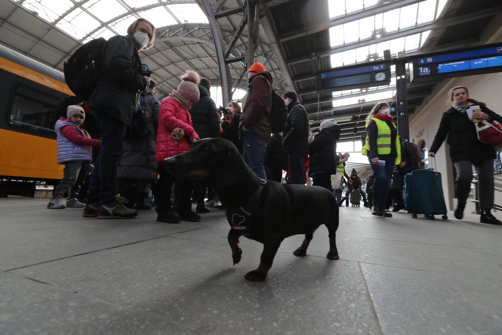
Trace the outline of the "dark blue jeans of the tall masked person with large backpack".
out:
[[[117,166],[122,156],[127,125],[108,113],[92,110],[98,119],[101,133],[101,150],[91,175],[86,202],[100,201],[102,204],[117,195]]]

